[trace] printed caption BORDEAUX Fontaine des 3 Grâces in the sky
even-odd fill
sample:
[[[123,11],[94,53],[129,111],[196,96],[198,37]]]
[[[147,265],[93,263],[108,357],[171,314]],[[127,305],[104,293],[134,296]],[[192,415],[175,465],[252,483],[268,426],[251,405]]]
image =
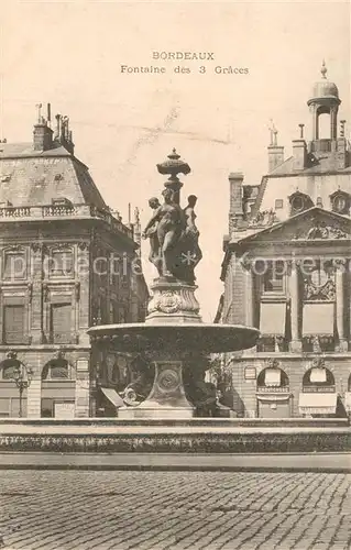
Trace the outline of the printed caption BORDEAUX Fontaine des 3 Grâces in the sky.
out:
[[[120,65],[120,72],[124,75],[135,74],[166,74],[175,73],[189,75],[191,73],[215,75],[248,75],[249,68],[235,65],[217,65],[213,52],[158,52],[151,53],[155,65]],[[160,63],[161,62],[161,63]],[[164,62],[164,64],[162,63]],[[169,63],[171,62],[171,63]]]

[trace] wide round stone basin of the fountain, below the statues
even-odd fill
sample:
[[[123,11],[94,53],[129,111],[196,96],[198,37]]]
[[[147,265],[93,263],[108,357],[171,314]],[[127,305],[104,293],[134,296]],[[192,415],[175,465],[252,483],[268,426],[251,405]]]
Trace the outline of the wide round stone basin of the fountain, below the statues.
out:
[[[92,342],[121,352],[167,351],[220,353],[256,344],[260,331],[241,324],[121,323],[88,329]]]

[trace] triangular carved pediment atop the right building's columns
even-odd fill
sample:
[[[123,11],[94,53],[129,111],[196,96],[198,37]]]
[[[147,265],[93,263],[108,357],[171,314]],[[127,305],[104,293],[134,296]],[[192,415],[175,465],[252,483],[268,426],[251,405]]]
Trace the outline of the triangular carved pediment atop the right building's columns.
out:
[[[334,212],[312,208],[277,222],[248,240],[282,241],[344,241],[351,238],[351,220]]]

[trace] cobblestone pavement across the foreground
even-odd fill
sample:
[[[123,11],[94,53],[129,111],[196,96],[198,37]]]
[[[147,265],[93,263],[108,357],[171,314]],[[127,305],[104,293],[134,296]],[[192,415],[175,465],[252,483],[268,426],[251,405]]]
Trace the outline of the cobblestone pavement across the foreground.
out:
[[[351,548],[351,474],[1,471],[0,548]]]

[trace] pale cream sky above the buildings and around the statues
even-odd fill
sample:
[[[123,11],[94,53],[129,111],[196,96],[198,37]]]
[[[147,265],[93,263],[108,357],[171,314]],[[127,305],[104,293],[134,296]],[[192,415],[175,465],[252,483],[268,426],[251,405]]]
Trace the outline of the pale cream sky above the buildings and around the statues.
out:
[[[292,153],[298,123],[320,66],[350,112],[350,7],[330,1],[116,2],[3,0],[0,21],[0,133],[32,140],[35,105],[67,114],[75,153],[106,202],[127,221],[161,196],[156,170],[173,147],[191,173],[182,204],[198,197],[204,258],[197,297],[205,321],[215,317],[223,284],[222,238],[228,232],[230,172],[259,184],[267,169],[271,120]],[[153,52],[212,53],[215,59],[156,61]],[[164,74],[121,73],[121,65],[163,66]],[[175,67],[190,73],[174,73]],[[205,66],[205,73],[200,73]],[[215,70],[217,68],[217,73]],[[248,69],[224,74],[222,68]],[[350,124],[347,135],[350,135]],[[156,276],[147,263],[147,283]]]

